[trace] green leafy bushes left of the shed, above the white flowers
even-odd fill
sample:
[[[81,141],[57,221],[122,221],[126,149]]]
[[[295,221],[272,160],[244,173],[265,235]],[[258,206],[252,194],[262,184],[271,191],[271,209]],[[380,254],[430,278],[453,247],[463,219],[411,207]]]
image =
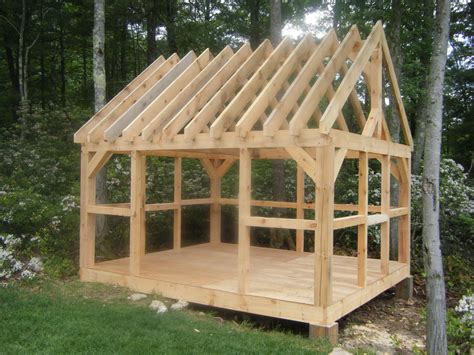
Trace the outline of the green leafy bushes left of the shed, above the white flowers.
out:
[[[33,109],[0,132],[0,233],[37,240],[23,258],[77,259],[78,150],[72,143],[80,112]],[[19,249],[20,250],[20,249]]]

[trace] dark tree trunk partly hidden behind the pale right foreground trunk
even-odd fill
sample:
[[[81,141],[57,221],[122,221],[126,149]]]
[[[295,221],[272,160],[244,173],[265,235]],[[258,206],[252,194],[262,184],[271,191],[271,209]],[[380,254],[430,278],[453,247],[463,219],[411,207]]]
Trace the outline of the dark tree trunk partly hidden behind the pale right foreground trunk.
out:
[[[433,12],[434,12],[434,1],[433,0],[424,0],[423,2],[423,40],[425,46],[432,41],[433,34]],[[425,55],[422,55],[420,58],[421,65],[423,68],[428,68],[430,65],[431,53],[428,51]],[[423,83],[424,87],[427,87],[426,80]],[[425,129],[426,129],[426,111],[425,105],[423,102],[426,100],[427,93],[423,93],[419,100],[418,106],[415,114],[415,150],[413,152],[412,159],[412,171],[414,174],[419,175],[421,173],[421,161],[423,159],[423,147],[425,143]]]

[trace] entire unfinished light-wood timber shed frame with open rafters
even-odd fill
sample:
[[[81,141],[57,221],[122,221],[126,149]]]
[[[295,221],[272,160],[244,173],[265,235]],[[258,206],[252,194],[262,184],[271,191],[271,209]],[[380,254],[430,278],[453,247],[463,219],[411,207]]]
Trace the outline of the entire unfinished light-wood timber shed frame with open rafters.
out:
[[[384,117],[383,72],[400,117],[403,144],[392,141]],[[316,78],[316,80],[315,80]],[[365,116],[356,86],[367,85]],[[337,83],[337,84],[335,84]],[[333,85],[337,85],[334,88]],[[327,98],[322,109],[320,102]],[[343,113],[351,105],[358,131]],[[323,112],[321,112],[323,110]],[[159,57],[77,131],[82,146],[80,275],[141,292],[232,310],[307,322],[329,334],[335,321],[410,276],[410,157],[412,137],[381,22],[362,40],[353,26],[339,42],[330,31],[296,46],[264,41],[236,53],[224,48],[183,58]],[[96,174],[113,154],[131,155],[130,203],[98,204]],[[175,159],[174,201],[146,203],[146,156]],[[181,198],[183,157],[202,162],[209,198]],[[293,159],[297,201],[255,201],[252,159]],[[344,159],[357,159],[358,204],[336,204],[334,185]],[[368,161],[381,164],[381,203],[368,204]],[[221,197],[221,178],[239,162],[239,197]],[[304,176],[316,186],[304,196]],[[399,205],[390,205],[390,179]],[[221,206],[237,205],[238,244],[221,243]],[[210,242],[181,247],[182,207],[210,206]],[[296,219],[253,216],[251,206],[296,209]],[[315,219],[304,210],[315,209]],[[148,211],[174,213],[173,249],[145,253]],[[334,218],[334,211],[351,215]],[[96,215],[130,218],[130,256],[95,260]],[[398,260],[389,260],[390,220],[398,218]],[[380,225],[380,259],[367,257],[367,228]],[[357,226],[357,256],[333,255],[333,232]],[[296,250],[250,245],[251,227],[295,229]],[[315,252],[304,251],[304,230]],[[272,268],[281,270],[281,278]],[[266,278],[265,278],[266,277]],[[266,282],[269,284],[267,285]]]

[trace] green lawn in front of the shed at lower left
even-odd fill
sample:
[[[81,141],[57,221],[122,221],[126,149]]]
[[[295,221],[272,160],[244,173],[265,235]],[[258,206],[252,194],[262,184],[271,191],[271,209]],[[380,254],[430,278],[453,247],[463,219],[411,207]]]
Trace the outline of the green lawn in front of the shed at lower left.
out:
[[[151,297],[78,281],[0,287],[0,353],[327,353],[326,341],[222,322],[192,310],[157,315]]]

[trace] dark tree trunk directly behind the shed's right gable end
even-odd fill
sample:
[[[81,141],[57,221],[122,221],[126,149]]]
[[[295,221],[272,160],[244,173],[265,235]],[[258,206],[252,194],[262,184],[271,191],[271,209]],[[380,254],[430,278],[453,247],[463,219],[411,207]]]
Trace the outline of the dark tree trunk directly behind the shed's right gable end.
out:
[[[392,54],[393,67],[395,69],[395,76],[397,81],[400,83],[401,71],[402,71],[402,50],[400,42],[400,30],[401,30],[401,20],[402,20],[402,7],[400,0],[392,0],[392,19],[390,26],[390,37],[391,37],[391,47],[390,51]],[[395,98],[393,93],[389,91],[389,100],[390,100],[390,109],[391,115],[390,120],[388,121],[388,126],[392,138],[398,142],[400,139],[400,115],[396,109]],[[391,194],[390,194],[390,204],[391,206],[398,206],[398,196],[399,196],[399,184],[396,179],[391,176]],[[398,256],[398,223],[390,223],[390,258],[392,260],[397,260]]]

